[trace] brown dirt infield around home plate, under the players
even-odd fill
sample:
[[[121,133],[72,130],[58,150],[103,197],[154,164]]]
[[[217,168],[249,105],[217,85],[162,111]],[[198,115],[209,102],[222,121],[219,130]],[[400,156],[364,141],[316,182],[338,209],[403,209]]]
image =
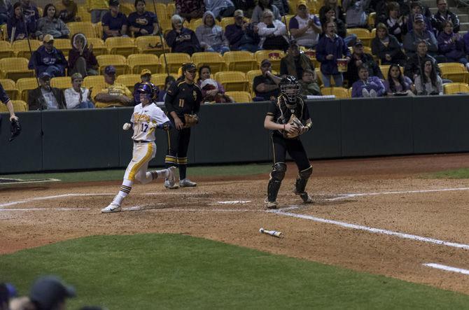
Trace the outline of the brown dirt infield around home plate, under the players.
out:
[[[136,185],[123,212],[112,214],[99,210],[120,182],[0,189],[0,254],[92,234],[172,232],[469,294],[469,275],[423,265],[469,269],[469,181],[417,177],[468,167],[469,155],[313,165],[307,189],[315,203],[293,195],[289,165],[276,212],[262,204],[267,175],[200,178],[197,188],[179,190],[165,190],[161,181]],[[286,237],[259,234],[260,227]]]

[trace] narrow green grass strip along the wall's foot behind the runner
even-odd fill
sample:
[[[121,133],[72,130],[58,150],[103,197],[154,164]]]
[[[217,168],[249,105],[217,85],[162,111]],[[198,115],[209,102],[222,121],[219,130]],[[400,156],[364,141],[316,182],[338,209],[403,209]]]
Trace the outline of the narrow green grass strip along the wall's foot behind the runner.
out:
[[[230,166],[199,166],[189,167],[188,174],[191,177],[197,176],[251,176],[254,174],[267,174],[272,164],[244,164]],[[155,168],[155,169],[162,169]],[[50,174],[8,174],[2,178],[22,178],[31,180],[34,178],[58,178],[63,182],[87,182],[87,181],[114,181],[120,180],[124,176],[125,170],[98,170],[80,172],[61,172]]]

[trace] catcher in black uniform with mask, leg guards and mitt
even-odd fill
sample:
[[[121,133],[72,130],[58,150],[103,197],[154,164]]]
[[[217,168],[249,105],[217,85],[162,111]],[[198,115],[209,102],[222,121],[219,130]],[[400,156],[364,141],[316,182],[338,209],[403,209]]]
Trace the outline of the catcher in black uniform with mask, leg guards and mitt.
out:
[[[306,204],[313,202],[304,191],[313,167],[300,141],[300,135],[309,131],[312,125],[308,107],[299,97],[300,83],[294,76],[282,78],[279,87],[280,96],[269,106],[264,120],[265,129],[272,130],[274,154],[274,165],[267,185],[267,199],[265,199],[268,209],[276,209],[278,206],[276,197],[285,176],[287,151],[299,171],[295,182],[295,194],[299,195]]]

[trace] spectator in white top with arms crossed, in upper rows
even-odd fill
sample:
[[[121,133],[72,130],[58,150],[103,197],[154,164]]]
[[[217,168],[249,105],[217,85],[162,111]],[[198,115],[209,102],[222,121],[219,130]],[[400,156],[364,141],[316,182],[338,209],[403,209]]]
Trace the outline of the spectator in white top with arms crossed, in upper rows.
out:
[[[258,24],[260,36],[259,46],[264,50],[283,50],[288,48],[286,27],[280,20],[274,20],[272,10],[265,9],[263,20]]]

